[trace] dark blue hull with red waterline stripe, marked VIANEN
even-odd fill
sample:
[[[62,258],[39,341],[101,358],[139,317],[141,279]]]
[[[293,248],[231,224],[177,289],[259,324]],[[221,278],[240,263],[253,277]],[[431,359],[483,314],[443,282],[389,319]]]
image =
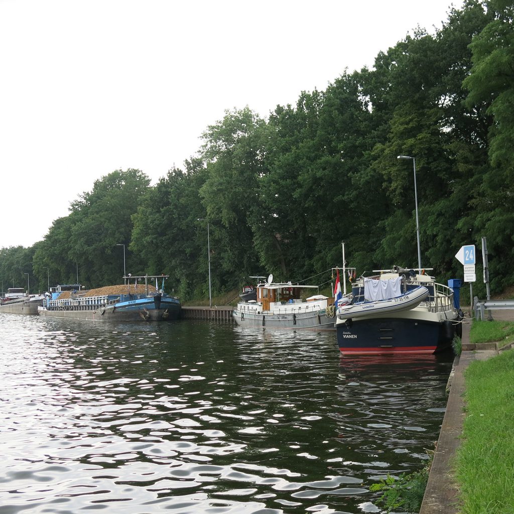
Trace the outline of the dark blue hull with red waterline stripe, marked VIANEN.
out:
[[[442,351],[455,335],[452,321],[405,318],[347,320],[338,323],[337,342],[343,355],[425,353]]]

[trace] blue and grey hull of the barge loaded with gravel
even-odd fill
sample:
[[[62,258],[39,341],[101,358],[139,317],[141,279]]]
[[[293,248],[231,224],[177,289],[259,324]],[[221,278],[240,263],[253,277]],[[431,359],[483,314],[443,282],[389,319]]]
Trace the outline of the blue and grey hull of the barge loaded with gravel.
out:
[[[89,308],[90,307],[90,308]],[[159,305],[153,299],[122,302],[105,307],[93,305],[65,308],[40,307],[39,315],[51,318],[71,318],[91,321],[173,321],[180,317],[180,303],[162,298]]]

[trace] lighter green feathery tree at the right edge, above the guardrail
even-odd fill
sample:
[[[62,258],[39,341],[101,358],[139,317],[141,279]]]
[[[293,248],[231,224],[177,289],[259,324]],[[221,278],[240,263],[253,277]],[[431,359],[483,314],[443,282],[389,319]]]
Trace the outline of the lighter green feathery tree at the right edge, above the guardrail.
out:
[[[469,45],[473,66],[464,87],[467,106],[485,109],[491,117],[489,167],[473,206],[475,229],[487,235],[494,290],[514,279],[514,6],[506,0],[486,5],[492,19]]]

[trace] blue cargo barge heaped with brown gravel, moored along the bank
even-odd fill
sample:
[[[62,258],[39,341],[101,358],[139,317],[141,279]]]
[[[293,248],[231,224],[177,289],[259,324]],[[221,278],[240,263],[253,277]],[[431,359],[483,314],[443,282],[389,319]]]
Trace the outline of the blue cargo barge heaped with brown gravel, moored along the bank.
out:
[[[180,316],[180,301],[163,291],[166,275],[124,277],[127,284],[84,291],[80,284],[58,285],[46,293],[40,316],[92,321],[171,321]],[[145,284],[137,284],[144,279]],[[156,287],[149,279],[156,280]],[[157,280],[162,287],[157,289]],[[130,281],[135,283],[131,284]]]

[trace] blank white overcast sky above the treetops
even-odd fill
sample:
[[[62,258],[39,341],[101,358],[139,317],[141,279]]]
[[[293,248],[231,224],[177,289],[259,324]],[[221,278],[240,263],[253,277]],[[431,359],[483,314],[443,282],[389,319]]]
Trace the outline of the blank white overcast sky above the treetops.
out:
[[[154,184],[183,167],[227,109],[267,117],[372,68],[416,27],[434,33],[450,5],[0,0],[0,248],[43,240],[115,170]]]

